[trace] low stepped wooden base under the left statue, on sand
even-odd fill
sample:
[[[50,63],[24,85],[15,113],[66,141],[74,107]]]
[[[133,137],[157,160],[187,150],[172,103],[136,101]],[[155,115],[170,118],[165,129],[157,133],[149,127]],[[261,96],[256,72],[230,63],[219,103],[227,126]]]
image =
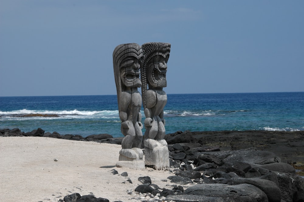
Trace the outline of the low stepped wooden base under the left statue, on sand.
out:
[[[122,149],[119,151],[119,161],[116,167],[125,167],[131,169],[144,169],[143,151],[139,148]]]

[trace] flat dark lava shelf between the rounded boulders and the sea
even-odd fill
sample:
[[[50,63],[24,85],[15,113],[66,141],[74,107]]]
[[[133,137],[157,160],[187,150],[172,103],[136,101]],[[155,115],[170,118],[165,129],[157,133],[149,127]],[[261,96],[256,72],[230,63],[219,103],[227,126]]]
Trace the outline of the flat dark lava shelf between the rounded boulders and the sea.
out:
[[[168,134],[165,139],[178,138],[181,133],[178,131]],[[302,157],[304,156],[304,131],[202,131],[191,132],[191,134],[194,142],[182,144],[187,144],[192,148],[220,148],[221,151],[256,147],[258,150],[274,153],[284,163],[303,162],[304,164]]]

